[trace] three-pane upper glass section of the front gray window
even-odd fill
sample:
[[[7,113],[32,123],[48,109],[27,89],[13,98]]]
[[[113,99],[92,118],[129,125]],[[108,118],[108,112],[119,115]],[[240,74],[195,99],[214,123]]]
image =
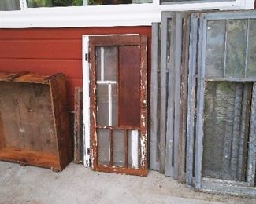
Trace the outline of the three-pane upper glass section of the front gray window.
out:
[[[256,77],[256,20],[208,20],[207,78]]]

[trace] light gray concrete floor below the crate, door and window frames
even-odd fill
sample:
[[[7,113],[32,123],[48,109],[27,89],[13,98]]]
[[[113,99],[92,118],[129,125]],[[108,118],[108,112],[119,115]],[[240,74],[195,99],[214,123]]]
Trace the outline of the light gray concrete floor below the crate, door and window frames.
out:
[[[0,162],[0,203],[256,203],[185,188],[151,171],[148,177],[98,173],[71,163],[63,172]]]

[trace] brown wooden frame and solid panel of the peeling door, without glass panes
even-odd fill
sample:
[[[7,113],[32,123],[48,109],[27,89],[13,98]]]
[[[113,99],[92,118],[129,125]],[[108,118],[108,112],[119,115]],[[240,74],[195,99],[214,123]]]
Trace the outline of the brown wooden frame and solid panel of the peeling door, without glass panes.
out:
[[[147,175],[147,37],[139,35],[127,36],[90,36],[89,37],[89,59],[90,59],[90,131],[91,131],[91,164],[92,169],[96,171],[112,172],[112,173],[127,173],[132,175]],[[97,101],[96,101],[96,54],[95,48],[97,46],[117,46],[117,58],[120,62],[117,64],[117,75],[119,81],[117,82],[117,95],[120,97],[117,100],[117,124],[97,124]],[[129,57],[128,57],[129,56]],[[136,57],[138,57],[134,60]],[[113,56],[115,57],[115,56]],[[126,58],[128,62],[125,62]],[[135,57],[135,58],[134,58]],[[133,60],[132,60],[133,59]],[[127,59],[126,59],[127,60]],[[131,72],[130,69],[133,69]],[[126,71],[125,71],[126,70]],[[125,71],[125,73],[124,73]],[[131,72],[127,75],[128,72]],[[139,80],[139,81],[138,81]],[[134,83],[134,84],[132,84]],[[139,91],[139,96],[138,92]],[[129,93],[129,94],[127,94]],[[134,96],[135,94],[135,96]],[[124,96],[125,95],[125,96]],[[135,100],[133,103],[132,100]],[[109,102],[111,102],[109,100]],[[139,103],[139,104],[138,104]],[[137,107],[134,107],[137,106]],[[132,109],[131,109],[132,108]],[[138,109],[139,108],[139,109]],[[139,115],[138,115],[139,113]],[[98,126],[99,125],[99,126]],[[106,165],[98,163],[98,129],[104,128],[109,130],[109,160]],[[115,129],[139,129],[138,143],[138,168],[129,168],[128,155],[124,155],[124,161],[121,166],[117,166],[114,162],[115,157],[115,138],[113,133]],[[123,138],[124,138],[123,137]],[[128,154],[126,148],[128,141],[122,144],[123,153]],[[124,147],[125,146],[125,147]],[[126,160],[126,161],[125,161]]]

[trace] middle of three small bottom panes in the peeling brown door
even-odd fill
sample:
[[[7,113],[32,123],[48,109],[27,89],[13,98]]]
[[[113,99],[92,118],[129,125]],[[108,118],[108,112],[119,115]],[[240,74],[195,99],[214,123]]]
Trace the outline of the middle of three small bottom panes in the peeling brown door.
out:
[[[113,129],[113,166],[125,165],[124,130]]]

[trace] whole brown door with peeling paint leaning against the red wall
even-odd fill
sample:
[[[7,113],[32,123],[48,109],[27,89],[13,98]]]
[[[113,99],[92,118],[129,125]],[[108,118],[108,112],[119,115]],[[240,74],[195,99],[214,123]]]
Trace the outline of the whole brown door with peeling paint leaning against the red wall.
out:
[[[89,37],[91,167],[147,176],[147,38]]]

